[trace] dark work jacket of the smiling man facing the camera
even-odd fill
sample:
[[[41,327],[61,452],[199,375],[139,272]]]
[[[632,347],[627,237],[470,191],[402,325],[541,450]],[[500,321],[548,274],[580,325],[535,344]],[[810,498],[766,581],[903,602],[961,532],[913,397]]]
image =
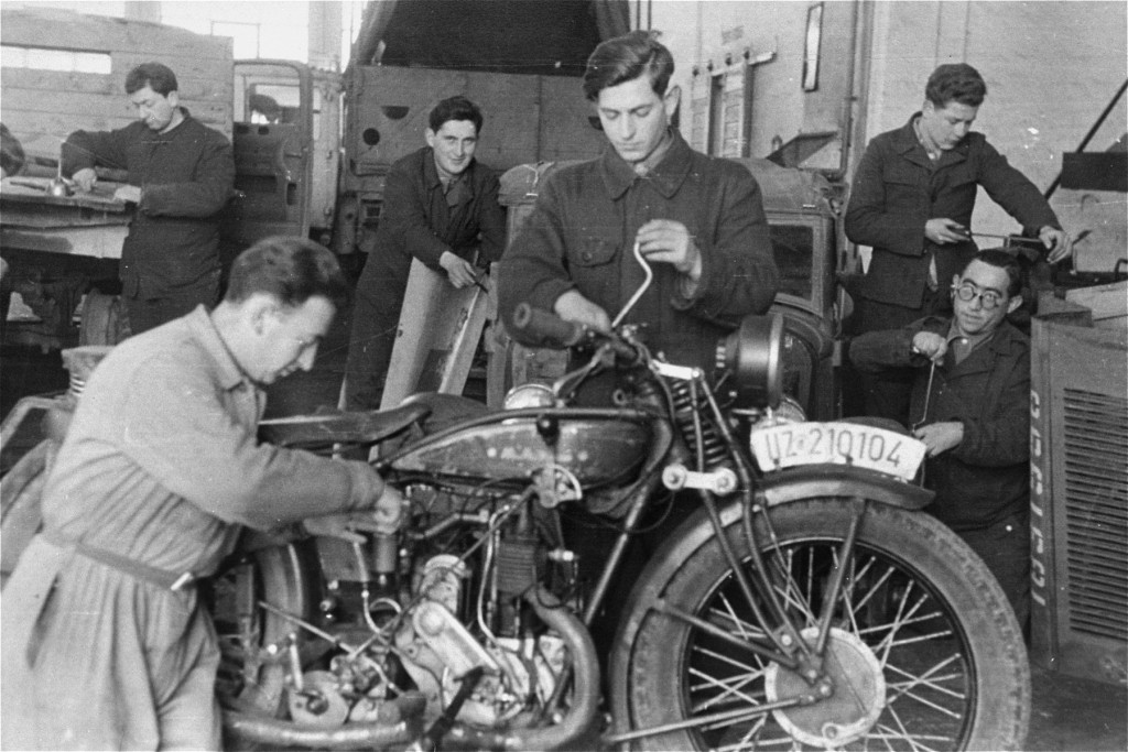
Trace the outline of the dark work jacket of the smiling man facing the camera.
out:
[[[497,203],[496,172],[474,160],[466,168],[469,195],[453,209],[434,165],[434,150],[424,147],[397,160],[384,188],[380,225],[356,294],[367,297],[398,318],[412,259],[441,272],[439,258],[451,251],[487,267],[505,247],[505,213]]]

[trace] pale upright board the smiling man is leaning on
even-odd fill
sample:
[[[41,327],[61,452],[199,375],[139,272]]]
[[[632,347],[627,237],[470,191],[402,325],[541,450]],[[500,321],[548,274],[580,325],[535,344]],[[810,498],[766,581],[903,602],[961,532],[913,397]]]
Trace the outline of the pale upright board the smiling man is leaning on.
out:
[[[417,391],[460,395],[490,310],[486,292],[455,290],[446,274],[418,259],[412,260],[404,301],[380,409]]]

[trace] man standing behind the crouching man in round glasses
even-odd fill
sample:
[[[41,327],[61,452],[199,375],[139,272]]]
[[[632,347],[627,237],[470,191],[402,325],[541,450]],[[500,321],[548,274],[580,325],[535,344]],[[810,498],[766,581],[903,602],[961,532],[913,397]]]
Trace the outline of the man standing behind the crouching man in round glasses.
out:
[[[977,250],[970,227],[979,186],[1042,241],[1050,263],[1069,255],[1073,241],[1034,184],[971,132],[986,95],[971,65],[941,65],[928,77],[922,110],[866,148],[846,210],[847,237],[873,247],[855,297],[854,334],[951,310],[948,281]],[[909,383],[863,378],[862,386],[867,415],[905,422]]]

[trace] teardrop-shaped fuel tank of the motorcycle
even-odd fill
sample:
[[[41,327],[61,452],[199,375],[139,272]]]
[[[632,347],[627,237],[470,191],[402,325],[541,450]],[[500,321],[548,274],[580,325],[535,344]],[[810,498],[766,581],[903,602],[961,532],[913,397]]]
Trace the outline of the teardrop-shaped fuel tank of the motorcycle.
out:
[[[396,471],[523,480],[556,465],[588,489],[637,477],[650,452],[653,418],[634,410],[506,410],[407,446],[386,465]]]

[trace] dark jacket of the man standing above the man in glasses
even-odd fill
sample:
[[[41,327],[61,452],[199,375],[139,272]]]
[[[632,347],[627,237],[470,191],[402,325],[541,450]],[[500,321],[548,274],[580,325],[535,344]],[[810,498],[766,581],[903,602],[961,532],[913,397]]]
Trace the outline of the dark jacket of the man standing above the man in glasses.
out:
[[[1054,210],[1033,183],[1011,167],[981,133],[969,133],[941,154],[935,168],[913,131],[913,120],[873,139],[862,156],[846,209],[846,236],[873,247],[858,293],[883,303],[919,308],[928,284],[928,256],[936,257],[942,293],[976,254],[971,240],[938,246],[925,238],[931,219],[971,228],[976,192],[982,186],[1029,235],[1049,224]]]

